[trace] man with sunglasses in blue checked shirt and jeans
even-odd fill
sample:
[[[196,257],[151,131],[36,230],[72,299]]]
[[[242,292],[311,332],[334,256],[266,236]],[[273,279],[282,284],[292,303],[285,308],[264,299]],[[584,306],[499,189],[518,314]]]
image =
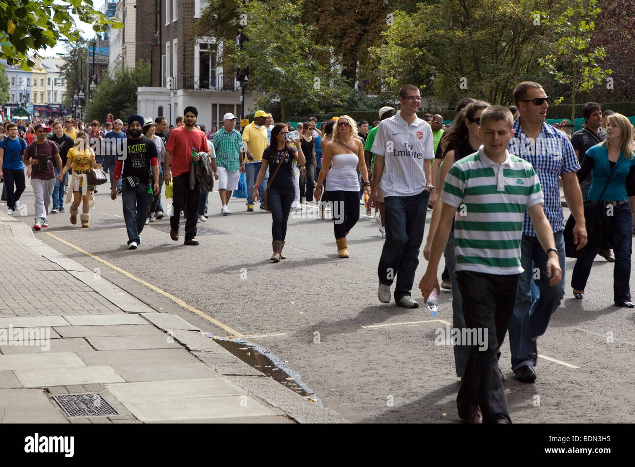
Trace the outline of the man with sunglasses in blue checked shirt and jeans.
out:
[[[510,154],[531,163],[538,174],[544,192],[542,207],[554,233],[562,269],[562,280],[551,287],[551,278],[546,272],[547,252],[540,246],[531,218],[525,212],[521,242],[524,271],[518,281],[516,304],[509,323],[512,370],[516,379],[522,382],[536,379],[533,367],[538,359],[538,337],[547,330],[549,318],[565,295],[565,216],[560,201],[559,178],[562,179],[567,205],[576,220],[573,239],[578,243],[578,250],[587,243],[582,193],[575,175],[580,170],[580,163],[568,137],[545,122],[548,99],[542,86],[533,81],[523,81],[514,88],[514,102],[520,116],[514,122],[514,135],[507,148]],[[540,291],[537,299],[531,295],[532,280]]]

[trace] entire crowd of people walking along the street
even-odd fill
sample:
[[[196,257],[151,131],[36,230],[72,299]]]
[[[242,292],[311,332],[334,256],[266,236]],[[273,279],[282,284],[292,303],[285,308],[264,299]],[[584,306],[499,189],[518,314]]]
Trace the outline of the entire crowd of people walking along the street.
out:
[[[419,306],[411,292],[432,209],[423,248],[428,263],[419,283],[424,300],[449,289],[453,326],[488,330],[485,348],[454,346],[462,379],[458,414],[467,423],[511,423],[500,346],[509,331],[514,377],[537,379],[537,341],[565,295],[566,252],[577,257],[575,298],[584,298],[600,254],[615,262],[615,305],[635,307],[629,286],[635,128],[625,116],[588,102],[584,128],[570,134],[568,120],[545,122],[549,96],[538,83],[519,83],[513,97],[511,107],[464,98],[451,125],[439,114],[419,118],[421,96],[414,85],[399,90],[399,110],[382,107],[372,124],[342,115],[293,128],[258,110],[242,133],[231,113],[220,129],[208,132],[192,106],[176,128],[161,116],[133,115],[124,122],[112,114],[104,128],[97,120],[86,128],[72,118],[36,123],[30,131],[20,121],[6,123],[3,200],[9,215],[20,209],[27,177],[35,197],[34,230],[48,227],[49,214],[65,212],[69,203],[71,224],[79,215],[81,226],[89,227],[97,186],[88,175],[102,169],[110,173],[110,198],[122,196],[130,250],[141,244],[145,225],[163,218],[163,186],[171,192],[171,239],[178,241],[183,215],[184,244],[198,245],[197,222],[208,219],[214,182],[220,214],[231,215],[229,200],[244,173],[246,210],[258,203],[271,212],[272,262],[286,259],[288,219],[302,206],[317,207],[321,218],[331,210],[338,257],[348,258],[347,236],[361,204],[368,216],[375,208],[385,238],[378,299],[405,308]],[[570,244],[561,189],[572,213]],[[591,205],[599,206],[601,219],[589,217]]]

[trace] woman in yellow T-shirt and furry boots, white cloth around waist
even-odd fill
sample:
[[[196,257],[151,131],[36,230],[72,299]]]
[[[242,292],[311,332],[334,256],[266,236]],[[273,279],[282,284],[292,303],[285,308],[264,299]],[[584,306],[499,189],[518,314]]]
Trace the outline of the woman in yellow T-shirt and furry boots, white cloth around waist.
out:
[[[91,208],[91,204],[95,201],[91,199],[93,197],[94,186],[88,184],[86,180],[86,173],[91,168],[97,168],[97,161],[95,161],[95,151],[88,146],[86,142],[86,133],[77,132],[77,138],[75,139],[75,146],[69,149],[66,156],[66,165],[62,169],[62,177],[66,175],[69,170],[72,170],[69,182],[69,193],[66,195],[65,203],[70,203],[70,223],[77,224],[77,214],[79,214],[79,203],[82,204],[81,214],[81,226],[90,227],[88,221],[90,220],[90,214],[88,211]]]

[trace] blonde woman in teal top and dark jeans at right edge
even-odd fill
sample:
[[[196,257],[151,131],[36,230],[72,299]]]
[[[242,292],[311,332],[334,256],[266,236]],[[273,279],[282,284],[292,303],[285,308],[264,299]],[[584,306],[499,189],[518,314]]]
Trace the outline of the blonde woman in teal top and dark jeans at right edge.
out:
[[[610,224],[610,238],[615,250],[613,269],[613,302],[634,308],[631,302],[631,244],[633,212],[635,212],[635,159],[632,125],[622,114],[608,116],[606,140],[590,147],[578,170],[578,180],[591,172],[591,188],[587,201],[601,201],[605,222]],[[593,259],[602,245],[587,247],[588,254],[575,262],[571,278],[573,295],[584,297]]]

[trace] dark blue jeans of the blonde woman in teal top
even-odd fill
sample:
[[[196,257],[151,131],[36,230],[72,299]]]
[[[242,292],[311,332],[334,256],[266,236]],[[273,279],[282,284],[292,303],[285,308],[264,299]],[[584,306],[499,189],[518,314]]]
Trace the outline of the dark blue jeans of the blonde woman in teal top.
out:
[[[625,203],[613,208],[613,215],[607,216],[610,220],[613,231],[623,234],[622,241],[613,240],[613,250],[615,251],[615,264],[613,267],[613,302],[616,305],[631,301],[631,245],[632,245],[632,222],[633,215],[629,203]],[[593,248],[584,258],[575,261],[573,274],[571,276],[571,287],[577,290],[584,290],[591,273],[593,260],[598,254],[599,247]]]

